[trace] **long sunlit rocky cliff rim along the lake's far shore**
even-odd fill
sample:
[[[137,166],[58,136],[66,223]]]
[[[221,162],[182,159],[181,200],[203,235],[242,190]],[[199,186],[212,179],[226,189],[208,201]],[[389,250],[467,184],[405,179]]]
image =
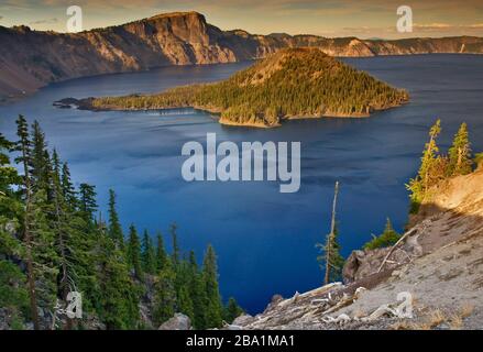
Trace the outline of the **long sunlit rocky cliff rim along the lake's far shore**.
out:
[[[0,26],[0,101],[63,79],[256,59],[282,47],[317,46],[332,56],[483,53],[483,38],[470,36],[365,41],[222,31],[197,12],[160,14],[81,33]]]

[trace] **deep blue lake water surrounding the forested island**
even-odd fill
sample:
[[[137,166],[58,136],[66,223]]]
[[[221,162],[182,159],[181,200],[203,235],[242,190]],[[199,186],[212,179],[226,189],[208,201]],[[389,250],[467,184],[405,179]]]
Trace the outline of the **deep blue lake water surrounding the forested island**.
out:
[[[407,218],[405,183],[419,163],[429,127],[442,120],[443,148],[461,122],[473,148],[483,151],[483,56],[421,55],[344,59],[396,87],[411,102],[370,119],[292,121],[273,130],[222,127],[198,111],[90,112],[56,109],[54,100],[131,92],[229,77],[249,63],[168,67],[56,84],[0,107],[0,130],[14,138],[19,113],[37,119],[67,160],[76,183],[97,186],[106,209],[118,194],[124,227],[154,233],[176,221],[185,250],[198,258],[208,243],[219,256],[223,298],[234,296],[250,312],[274,294],[292,296],[320,285],[315,243],[329,231],[336,180],[341,183],[338,220],[343,254],[380,233],[386,217],[398,230]],[[188,141],[300,141],[301,187],[279,194],[278,184],[186,183],[180,175]],[[106,211],[103,211],[106,213]]]

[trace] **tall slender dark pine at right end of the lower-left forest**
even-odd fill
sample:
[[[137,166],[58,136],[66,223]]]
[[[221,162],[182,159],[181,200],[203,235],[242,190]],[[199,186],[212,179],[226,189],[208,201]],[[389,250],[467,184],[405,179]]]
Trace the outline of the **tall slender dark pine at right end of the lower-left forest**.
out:
[[[218,328],[222,322],[222,304],[218,287],[217,256],[211,245],[205,253],[202,277],[207,295],[206,327]]]

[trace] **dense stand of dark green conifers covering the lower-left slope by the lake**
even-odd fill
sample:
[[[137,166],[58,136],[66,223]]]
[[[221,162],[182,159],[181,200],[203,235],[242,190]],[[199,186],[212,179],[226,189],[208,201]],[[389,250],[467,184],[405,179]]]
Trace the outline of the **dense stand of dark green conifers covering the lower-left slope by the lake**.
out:
[[[169,229],[171,255],[161,233],[154,248],[147,231],[141,243],[134,224],[124,243],[114,191],[109,191],[106,226],[96,219],[95,187],[74,187],[67,163],[55,150],[51,157],[40,124],[29,129],[19,117],[18,135],[11,143],[0,134],[0,307],[10,315],[10,328],[22,329],[30,320],[35,329],[51,328],[46,317],[58,318],[57,329],[85,328],[85,319],[59,317],[57,304],[65,306],[76,290],[83,294],[83,318],[95,316],[107,329],[141,329],[140,300],[149,283],[154,283],[155,323],[183,312],[197,329],[221,326],[212,248],[199,270],[193,252],[183,255],[176,224]],[[10,165],[12,151],[21,176]]]

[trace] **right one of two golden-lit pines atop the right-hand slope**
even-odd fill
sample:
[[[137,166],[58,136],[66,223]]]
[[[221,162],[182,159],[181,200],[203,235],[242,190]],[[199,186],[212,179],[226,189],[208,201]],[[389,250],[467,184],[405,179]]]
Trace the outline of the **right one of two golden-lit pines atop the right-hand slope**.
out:
[[[468,125],[462,123],[454,135],[453,144],[449,150],[449,163],[447,175],[468,175],[473,170],[471,144],[468,136]]]

